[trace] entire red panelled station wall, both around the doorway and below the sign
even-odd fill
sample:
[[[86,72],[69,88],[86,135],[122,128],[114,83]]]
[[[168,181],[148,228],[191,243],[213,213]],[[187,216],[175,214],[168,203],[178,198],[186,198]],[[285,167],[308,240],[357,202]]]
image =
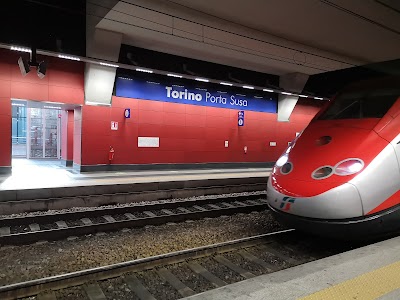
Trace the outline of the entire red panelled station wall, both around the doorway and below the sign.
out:
[[[0,168],[11,166],[11,99],[82,106],[75,108],[73,122],[72,111],[62,114],[68,117],[63,124],[73,123],[73,133],[63,129],[73,139],[62,139],[67,141],[61,145],[67,149],[62,158],[70,160],[72,152],[78,166],[109,164],[110,146],[115,149],[112,164],[117,165],[274,162],[321,106],[316,100],[299,99],[289,122],[277,122],[277,114],[245,111],[244,126],[239,127],[238,111],[224,108],[115,96],[111,107],[84,105],[83,63],[46,58],[43,79],[34,69],[23,77],[20,55],[0,50]],[[126,108],[131,109],[130,119],[124,117]],[[118,122],[118,130],[111,130],[111,121]],[[138,137],[159,137],[160,147],[139,148]]]

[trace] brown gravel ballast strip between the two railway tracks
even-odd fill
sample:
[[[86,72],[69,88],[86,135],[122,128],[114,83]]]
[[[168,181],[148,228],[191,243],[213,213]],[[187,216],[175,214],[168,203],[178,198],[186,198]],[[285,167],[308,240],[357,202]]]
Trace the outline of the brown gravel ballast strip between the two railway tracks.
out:
[[[0,286],[281,230],[268,211],[0,247]]]

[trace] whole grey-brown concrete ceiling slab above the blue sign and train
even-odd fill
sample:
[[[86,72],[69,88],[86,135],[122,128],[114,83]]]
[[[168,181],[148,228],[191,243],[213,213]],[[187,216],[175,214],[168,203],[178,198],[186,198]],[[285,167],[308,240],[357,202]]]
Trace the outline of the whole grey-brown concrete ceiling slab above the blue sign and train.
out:
[[[122,33],[125,44],[269,74],[400,58],[398,0],[96,3],[108,8],[96,27]]]

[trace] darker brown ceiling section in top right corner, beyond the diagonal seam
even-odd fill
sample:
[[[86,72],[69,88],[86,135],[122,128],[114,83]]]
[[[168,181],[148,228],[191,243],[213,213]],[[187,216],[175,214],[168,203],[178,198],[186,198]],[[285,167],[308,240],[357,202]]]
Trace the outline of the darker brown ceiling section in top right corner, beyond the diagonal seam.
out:
[[[169,0],[366,62],[400,58],[398,0]],[[227,9],[229,7],[229,9]]]

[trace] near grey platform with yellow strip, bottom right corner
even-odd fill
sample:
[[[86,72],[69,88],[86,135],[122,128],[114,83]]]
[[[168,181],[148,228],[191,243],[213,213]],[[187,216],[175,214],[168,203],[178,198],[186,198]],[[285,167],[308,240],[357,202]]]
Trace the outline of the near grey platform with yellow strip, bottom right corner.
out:
[[[187,297],[187,300],[400,299],[400,237]]]

